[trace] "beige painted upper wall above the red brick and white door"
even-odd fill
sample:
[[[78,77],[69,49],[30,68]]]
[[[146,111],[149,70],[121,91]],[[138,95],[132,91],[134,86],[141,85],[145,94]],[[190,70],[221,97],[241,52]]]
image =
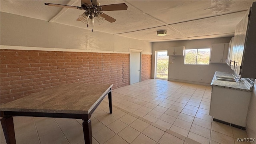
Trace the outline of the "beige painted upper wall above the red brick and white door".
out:
[[[1,45],[152,53],[152,43],[1,12]],[[86,24],[84,24],[86,26]]]

